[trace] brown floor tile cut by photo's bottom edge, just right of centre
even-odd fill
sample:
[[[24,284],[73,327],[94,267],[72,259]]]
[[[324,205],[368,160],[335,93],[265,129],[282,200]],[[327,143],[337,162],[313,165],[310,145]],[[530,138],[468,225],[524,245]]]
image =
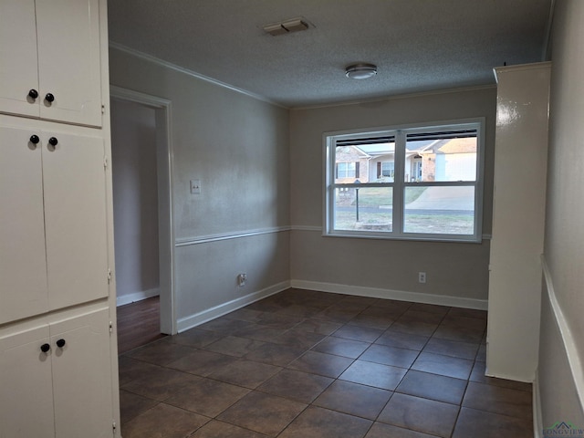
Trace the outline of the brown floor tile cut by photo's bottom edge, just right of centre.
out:
[[[309,406],[278,438],[361,438],[370,425],[363,418]]]

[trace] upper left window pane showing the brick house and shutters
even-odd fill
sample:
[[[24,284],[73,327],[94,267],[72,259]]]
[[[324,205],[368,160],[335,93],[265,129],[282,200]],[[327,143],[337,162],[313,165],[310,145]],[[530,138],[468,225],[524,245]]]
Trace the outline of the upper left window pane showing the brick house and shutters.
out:
[[[359,143],[359,139],[355,143]],[[343,141],[335,148],[335,183],[393,183],[395,142],[383,139],[366,144]]]

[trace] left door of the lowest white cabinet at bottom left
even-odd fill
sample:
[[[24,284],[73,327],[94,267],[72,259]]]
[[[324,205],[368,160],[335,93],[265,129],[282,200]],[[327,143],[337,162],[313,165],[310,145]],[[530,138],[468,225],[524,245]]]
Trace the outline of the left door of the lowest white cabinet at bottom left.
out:
[[[0,336],[0,438],[55,436],[48,335],[44,325]]]

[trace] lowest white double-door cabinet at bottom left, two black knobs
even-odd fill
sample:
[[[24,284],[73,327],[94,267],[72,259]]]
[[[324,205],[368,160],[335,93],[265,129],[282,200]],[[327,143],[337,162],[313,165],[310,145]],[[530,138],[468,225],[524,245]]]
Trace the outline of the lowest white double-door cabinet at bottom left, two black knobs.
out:
[[[0,330],[0,437],[111,437],[109,338],[108,308]]]

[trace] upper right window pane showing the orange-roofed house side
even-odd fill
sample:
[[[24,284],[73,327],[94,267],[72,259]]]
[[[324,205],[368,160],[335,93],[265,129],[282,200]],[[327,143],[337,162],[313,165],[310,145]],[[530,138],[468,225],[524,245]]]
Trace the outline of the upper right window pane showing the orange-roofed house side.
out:
[[[430,140],[408,136],[405,182],[475,181],[476,151],[475,136],[455,139],[434,136]]]

